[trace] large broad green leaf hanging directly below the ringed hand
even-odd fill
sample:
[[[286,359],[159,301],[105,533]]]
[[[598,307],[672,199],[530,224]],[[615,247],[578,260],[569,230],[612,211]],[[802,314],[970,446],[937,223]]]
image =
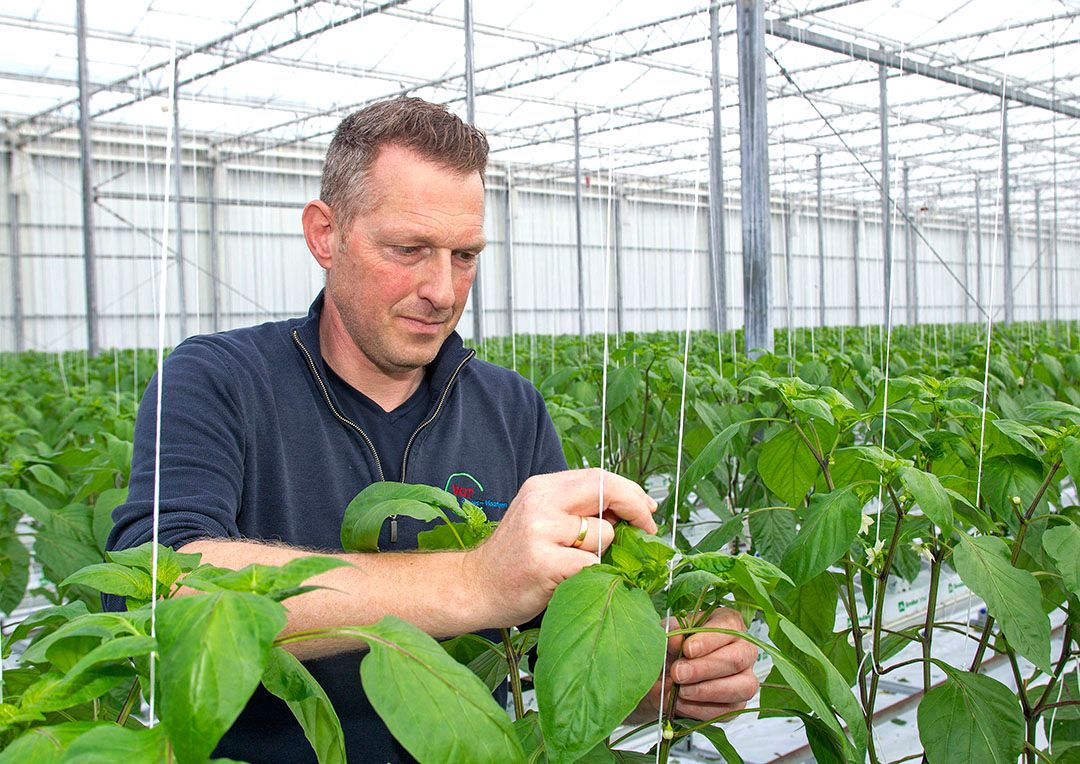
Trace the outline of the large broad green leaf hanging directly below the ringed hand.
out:
[[[555,764],[611,734],[660,676],[666,635],[640,589],[600,565],[563,581],[540,629],[540,724]]]

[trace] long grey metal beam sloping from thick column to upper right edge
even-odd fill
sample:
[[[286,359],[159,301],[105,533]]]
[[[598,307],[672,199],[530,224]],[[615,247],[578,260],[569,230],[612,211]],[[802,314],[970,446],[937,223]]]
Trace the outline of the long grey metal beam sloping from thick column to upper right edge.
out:
[[[1012,88],[1003,83],[987,82],[968,75],[960,75],[958,72],[950,71],[949,69],[943,69],[937,66],[931,66],[930,64],[923,64],[921,62],[914,61],[909,56],[901,56],[895,53],[890,53],[889,51],[867,48],[866,45],[860,45],[854,42],[849,42],[848,40],[838,40],[834,37],[828,37],[827,35],[810,31],[809,29],[793,27],[784,22],[766,21],[765,30],[773,37],[791,40],[793,42],[801,42],[805,45],[820,48],[833,53],[839,53],[841,55],[850,56],[854,61],[866,61],[872,64],[887,66],[890,69],[900,69],[901,71],[906,71],[912,75],[919,75],[932,80],[939,80],[940,82],[947,82],[949,84],[957,85],[958,88],[967,88],[968,90],[975,91],[976,93],[986,93],[987,95],[998,97],[1003,94],[1010,100],[1015,100],[1016,103],[1024,104],[1025,106],[1035,106],[1036,108],[1047,109],[1048,111],[1054,111],[1066,117],[1080,118],[1080,108],[1076,106],[1063,104],[1057,100],[1051,100],[1050,98],[1043,98],[1038,95],[1031,95],[1026,91],[1017,90],[1016,88]]]

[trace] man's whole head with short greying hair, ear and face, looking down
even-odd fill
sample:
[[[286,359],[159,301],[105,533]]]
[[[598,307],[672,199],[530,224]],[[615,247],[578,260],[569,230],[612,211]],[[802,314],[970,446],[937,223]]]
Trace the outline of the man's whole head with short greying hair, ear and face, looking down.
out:
[[[401,98],[342,121],[303,231],[326,270],[323,354],[370,379],[410,375],[454,331],[484,247],[487,140]],[[359,351],[359,352],[357,352]]]

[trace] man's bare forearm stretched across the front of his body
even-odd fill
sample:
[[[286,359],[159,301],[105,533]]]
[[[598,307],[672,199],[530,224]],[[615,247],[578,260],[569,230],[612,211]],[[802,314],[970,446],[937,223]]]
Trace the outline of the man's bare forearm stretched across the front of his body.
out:
[[[294,547],[207,539],[185,545],[202,561],[239,569],[253,563],[284,565],[314,552]],[[394,615],[433,636],[451,636],[491,627],[487,598],[469,565],[467,552],[338,553],[350,563],[307,581],[324,587],[284,602],[288,620],[282,635],[313,629],[374,624]],[[288,645],[301,659],[357,649],[356,640],[323,638]]]

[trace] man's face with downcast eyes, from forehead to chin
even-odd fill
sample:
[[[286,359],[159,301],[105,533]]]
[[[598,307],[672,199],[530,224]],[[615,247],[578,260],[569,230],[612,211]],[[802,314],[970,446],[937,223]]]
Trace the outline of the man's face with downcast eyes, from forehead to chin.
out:
[[[374,205],[353,219],[326,278],[352,341],[384,374],[431,363],[454,331],[484,247],[484,185],[397,146],[368,176]]]

